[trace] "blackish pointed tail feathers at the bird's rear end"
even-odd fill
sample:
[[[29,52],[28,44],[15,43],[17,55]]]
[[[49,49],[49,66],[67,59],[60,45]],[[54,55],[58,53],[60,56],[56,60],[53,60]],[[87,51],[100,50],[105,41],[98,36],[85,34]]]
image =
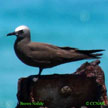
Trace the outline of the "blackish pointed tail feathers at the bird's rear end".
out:
[[[87,59],[99,59],[101,58],[101,56],[103,55],[102,53],[97,53],[97,52],[101,52],[101,51],[105,51],[103,49],[98,49],[98,50],[77,50],[77,52],[79,52],[80,54],[84,54],[87,57]]]

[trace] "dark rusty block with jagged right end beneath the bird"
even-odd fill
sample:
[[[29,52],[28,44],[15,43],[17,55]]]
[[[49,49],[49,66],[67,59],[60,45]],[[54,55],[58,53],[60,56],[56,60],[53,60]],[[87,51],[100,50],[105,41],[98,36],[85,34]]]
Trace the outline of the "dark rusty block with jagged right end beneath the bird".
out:
[[[90,105],[103,101],[107,104],[104,72],[99,62],[86,62],[73,74],[42,75],[36,82],[34,75],[20,78],[16,108],[101,108]]]

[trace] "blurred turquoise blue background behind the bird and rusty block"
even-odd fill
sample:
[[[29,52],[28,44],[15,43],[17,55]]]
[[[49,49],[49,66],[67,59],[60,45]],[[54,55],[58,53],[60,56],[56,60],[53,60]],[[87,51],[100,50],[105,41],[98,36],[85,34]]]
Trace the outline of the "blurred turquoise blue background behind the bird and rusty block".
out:
[[[15,55],[16,37],[7,37],[17,26],[26,25],[34,42],[79,49],[105,49],[100,66],[108,89],[107,0],[7,0],[0,1],[0,108],[14,108],[17,82],[38,74],[38,68],[23,64]],[[85,61],[45,69],[42,74],[73,73]]]

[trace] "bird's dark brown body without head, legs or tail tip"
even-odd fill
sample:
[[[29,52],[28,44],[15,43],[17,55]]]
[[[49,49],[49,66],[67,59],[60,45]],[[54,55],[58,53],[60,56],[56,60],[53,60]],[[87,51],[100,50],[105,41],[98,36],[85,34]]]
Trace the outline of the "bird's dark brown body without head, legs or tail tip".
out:
[[[78,52],[75,48],[29,42],[27,39],[16,40],[14,49],[16,55],[23,63],[40,68],[50,68],[63,63],[92,57]]]

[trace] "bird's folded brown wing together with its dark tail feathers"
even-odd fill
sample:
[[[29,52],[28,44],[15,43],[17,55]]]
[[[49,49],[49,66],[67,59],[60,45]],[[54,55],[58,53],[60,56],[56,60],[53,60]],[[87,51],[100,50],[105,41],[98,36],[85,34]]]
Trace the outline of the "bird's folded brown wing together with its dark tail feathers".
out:
[[[45,43],[29,43],[31,56],[34,60],[42,62],[65,63],[82,59],[99,58],[102,54],[95,53],[103,51],[99,50],[78,50],[71,47],[57,47]]]

